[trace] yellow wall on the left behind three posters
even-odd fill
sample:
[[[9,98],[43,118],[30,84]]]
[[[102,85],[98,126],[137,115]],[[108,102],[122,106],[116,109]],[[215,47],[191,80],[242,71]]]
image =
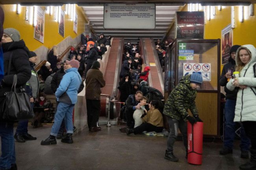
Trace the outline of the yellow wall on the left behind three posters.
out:
[[[65,33],[64,38],[58,33],[59,25],[58,22],[54,21],[54,15],[45,13],[45,37],[44,43],[34,39],[34,27],[25,20],[26,7],[21,7],[21,13],[17,14],[15,10],[16,5],[2,5],[4,9],[4,28],[12,27],[20,32],[21,39],[24,40],[26,46],[34,51],[40,46],[46,46],[52,48],[52,46],[59,44],[67,37],[75,38],[84,31],[85,18],[82,14],[81,7],[76,5],[76,13],[78,15],[78,28],[77,35],[73,31],[73,21],[70,16],[65,14]],[[45,7],[42,7],[45,9]],[[61,7],[64,11],[64,5]]]

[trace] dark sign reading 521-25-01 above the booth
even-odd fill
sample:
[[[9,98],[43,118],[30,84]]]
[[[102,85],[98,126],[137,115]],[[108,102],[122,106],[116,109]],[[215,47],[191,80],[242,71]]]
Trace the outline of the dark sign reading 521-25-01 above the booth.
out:
[[[204,12],[176,12],[177,39],[204,39]]]

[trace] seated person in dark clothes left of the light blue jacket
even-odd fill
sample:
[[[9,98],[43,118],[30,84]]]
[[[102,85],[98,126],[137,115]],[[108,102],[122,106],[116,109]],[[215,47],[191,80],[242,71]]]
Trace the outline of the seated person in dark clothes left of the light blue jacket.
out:
[[[41,122],[52,122],[54,118],[53,104],[46,94],[41,92],[34,105],[35,117],[33,118],[33,128],[38,128]]]

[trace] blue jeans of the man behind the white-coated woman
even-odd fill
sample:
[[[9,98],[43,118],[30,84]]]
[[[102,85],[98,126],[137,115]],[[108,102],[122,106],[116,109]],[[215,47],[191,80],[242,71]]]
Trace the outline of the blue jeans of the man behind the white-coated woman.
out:
[[[233,148],[233,141],[236,136],[236,123],[234,122],[235,117],[236,100],[227,99],[225,104],[225,135],[224,135],[224,147]],[[245,135],[245,130],[241,123],[241,144],[239,145],[241,150],[250,149],[250,139]]]

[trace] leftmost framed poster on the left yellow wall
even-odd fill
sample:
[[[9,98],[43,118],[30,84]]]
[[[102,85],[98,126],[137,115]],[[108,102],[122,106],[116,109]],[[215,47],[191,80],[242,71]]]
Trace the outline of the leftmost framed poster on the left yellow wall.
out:
[[[45,33],[45,10],[41,7],[35,8],[36,15],[36,25],[34,29],[34,38],[42,43],[44,43],[44,33]]]

